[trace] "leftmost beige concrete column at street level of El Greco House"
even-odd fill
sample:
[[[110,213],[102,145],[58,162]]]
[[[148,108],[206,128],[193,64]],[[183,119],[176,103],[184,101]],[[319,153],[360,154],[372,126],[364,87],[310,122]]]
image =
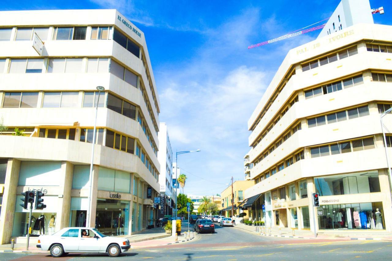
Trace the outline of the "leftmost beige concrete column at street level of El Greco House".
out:
[[[0,215],[0,244],[7,244],[11,238],[15,215],[16,187],[18,186],[20,161],[9,159],[5,172],[2,212]],[[22,201],[18,202],[22,203]]]

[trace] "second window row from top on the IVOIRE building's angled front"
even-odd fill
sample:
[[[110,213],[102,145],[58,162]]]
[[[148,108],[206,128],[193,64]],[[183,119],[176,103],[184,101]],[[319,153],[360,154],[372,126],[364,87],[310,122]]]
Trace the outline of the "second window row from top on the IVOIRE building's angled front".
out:
[[[357,86],[363,83],[362,75],[357,75],[344,80],[339,80],[337,82],[319,86],[310,90],[305,91],[305,99],[314,98],[323,94],[328,94],[335,91],[342,90],[342,86],[347,89],[352,86]]]

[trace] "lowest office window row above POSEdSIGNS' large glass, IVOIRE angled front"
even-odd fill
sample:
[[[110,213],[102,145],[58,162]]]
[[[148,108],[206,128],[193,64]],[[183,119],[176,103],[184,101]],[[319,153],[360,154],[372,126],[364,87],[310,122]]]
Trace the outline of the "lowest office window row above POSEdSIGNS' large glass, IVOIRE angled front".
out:
[[[310,157],[323,157],[329,155],[336,155],[352,151],[374,149],[373,137],[365,139],[356,139],[352,141],[342,141],[322,146],[310,148]]]

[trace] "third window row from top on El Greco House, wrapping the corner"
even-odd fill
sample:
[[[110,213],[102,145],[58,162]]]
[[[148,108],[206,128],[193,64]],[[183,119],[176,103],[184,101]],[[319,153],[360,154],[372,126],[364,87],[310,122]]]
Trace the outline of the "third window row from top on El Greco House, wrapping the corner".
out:
[[[42,101],[42,108],[76,108],[78,107],[79,92],[45,92]],[[93,107],[97,105],[98,92],[84,92],[83,107]],[[4,93],[4,101],[2,108],[37,108],[38,92],[12,92]],[[98,107],[105,106],[105,93],[101,94]],[[116,111],[128,118],[136,120],[136,106],[120,99],[111,93],[107,94],[106,107],[110,110]],[[152,140],[151,132],[147,130],[147,124],[142,116],[140,110],[138,111],[138,122],[142,126],[147,140],[149,141],[152,150],[155,154],[158,149],[155,142]]]

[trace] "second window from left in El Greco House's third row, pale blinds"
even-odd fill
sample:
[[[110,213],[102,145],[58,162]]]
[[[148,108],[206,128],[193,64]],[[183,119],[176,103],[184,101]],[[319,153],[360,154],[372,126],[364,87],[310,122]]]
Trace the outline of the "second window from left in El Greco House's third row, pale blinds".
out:
[[[65,107],[76,107],[78,105],[79,93],[73,92],[45,92],[43,108],[65,108]]]

